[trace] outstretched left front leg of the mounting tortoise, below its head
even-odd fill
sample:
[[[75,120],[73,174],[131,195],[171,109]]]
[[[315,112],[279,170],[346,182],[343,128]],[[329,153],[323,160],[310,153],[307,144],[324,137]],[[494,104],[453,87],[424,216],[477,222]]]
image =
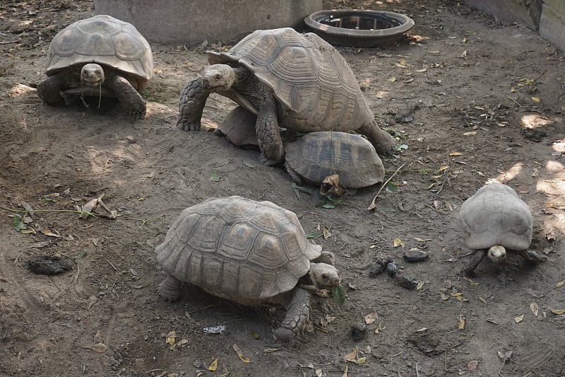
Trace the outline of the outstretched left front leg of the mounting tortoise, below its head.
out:
[[[210,92],[203,87],[202,78],[189,81],[181,93],[179,100],[179,120],[177,127],[184,131],[198,131],[202,119],[202,111]]]

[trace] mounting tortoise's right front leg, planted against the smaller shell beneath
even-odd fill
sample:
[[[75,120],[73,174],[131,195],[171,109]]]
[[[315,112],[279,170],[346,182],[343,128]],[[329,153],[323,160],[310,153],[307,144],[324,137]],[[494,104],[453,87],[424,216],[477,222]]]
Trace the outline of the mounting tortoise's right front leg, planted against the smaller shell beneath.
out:
[[[278,129],[275,100],[270,98],[263,103],[255,124],[257,142],[261,149],[261,162],[276,165],[283,160],[283,139]]]

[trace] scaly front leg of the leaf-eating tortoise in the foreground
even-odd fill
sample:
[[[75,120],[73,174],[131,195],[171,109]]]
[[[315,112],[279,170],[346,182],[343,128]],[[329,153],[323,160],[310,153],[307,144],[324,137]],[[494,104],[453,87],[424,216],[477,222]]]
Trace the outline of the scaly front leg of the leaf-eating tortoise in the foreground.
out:
[[[287,307],[287,315],[280,327],[275,330],[275,337],[284,343],[294,339],[310,319],[312,296],[309,291],[296,287],[292,291],[292,300]]]

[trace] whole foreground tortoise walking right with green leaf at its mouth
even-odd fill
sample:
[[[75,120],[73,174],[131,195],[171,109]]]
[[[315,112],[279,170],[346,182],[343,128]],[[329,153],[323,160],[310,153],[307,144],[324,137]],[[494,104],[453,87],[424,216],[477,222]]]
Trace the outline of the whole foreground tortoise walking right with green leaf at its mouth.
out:
[[[167,274],[162,298],[176,301],[189,282],[241,305],[286,307],[275,330],[282,342],[309,320],[311,291],[340,284],[333,254],[309,242],[296,214],[267,201],[206,199],[182,211],[155,251]]]

